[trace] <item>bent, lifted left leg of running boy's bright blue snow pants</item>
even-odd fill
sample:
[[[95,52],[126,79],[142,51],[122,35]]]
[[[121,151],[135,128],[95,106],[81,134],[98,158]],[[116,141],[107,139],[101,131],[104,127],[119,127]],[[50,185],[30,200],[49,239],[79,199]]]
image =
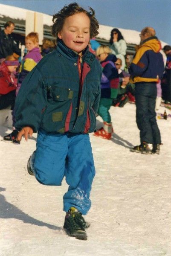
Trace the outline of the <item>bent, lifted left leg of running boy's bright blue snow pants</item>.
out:
[[[38,131],[33,171],[41,184],[61,185],[65,175],[67,150],[68,138],[66,134]]]

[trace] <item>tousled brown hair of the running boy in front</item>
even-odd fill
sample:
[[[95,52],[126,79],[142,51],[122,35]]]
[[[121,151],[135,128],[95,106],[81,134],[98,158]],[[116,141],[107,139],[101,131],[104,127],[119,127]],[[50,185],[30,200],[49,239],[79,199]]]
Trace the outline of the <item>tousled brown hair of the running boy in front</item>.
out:
[[[86,14],[90,19],[90,38],[95,37],[99,34],[99,22],[95,18],[95,12],[94,10],[89,7],[90,12],[87,12],[82,7],[78,6],[78,3],[70,3],[68,6],[64,6],[64,8],[61,9],[58,13],[53,15],[52,21],[52,35],[57,36],[57,42],[59,40],[58,38],[58,32],[60,32],[64,26],[65,19],[67,17],[70,17],[74,14],[83,12]]]

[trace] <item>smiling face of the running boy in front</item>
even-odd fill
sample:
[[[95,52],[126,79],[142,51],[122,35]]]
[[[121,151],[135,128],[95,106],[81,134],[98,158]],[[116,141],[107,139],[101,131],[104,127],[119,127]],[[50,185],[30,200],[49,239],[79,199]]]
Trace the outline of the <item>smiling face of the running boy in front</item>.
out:
[[[75,52],[81,53],[90,40],[90,19],[83,12],[69,16],[58,33],[58,38]]]

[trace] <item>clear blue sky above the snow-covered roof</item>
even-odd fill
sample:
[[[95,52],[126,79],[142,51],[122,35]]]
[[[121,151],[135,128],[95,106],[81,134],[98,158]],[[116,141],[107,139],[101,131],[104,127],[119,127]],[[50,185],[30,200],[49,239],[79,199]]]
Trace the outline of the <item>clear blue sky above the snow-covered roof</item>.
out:
[[[53,15],[64,5],[91,6],[100,24],[141,31],[152,26],[171,45],[171,0],[0,0],[0,3]]]

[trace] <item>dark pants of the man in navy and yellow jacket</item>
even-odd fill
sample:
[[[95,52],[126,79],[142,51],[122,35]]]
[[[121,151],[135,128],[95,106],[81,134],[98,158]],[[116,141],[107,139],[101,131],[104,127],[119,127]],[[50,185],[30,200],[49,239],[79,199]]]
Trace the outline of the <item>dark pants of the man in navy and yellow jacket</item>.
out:
[[[156,97],[156,83],[136,83],[136,123],[140,130],[140,143],[161,143],[155,112]]]

